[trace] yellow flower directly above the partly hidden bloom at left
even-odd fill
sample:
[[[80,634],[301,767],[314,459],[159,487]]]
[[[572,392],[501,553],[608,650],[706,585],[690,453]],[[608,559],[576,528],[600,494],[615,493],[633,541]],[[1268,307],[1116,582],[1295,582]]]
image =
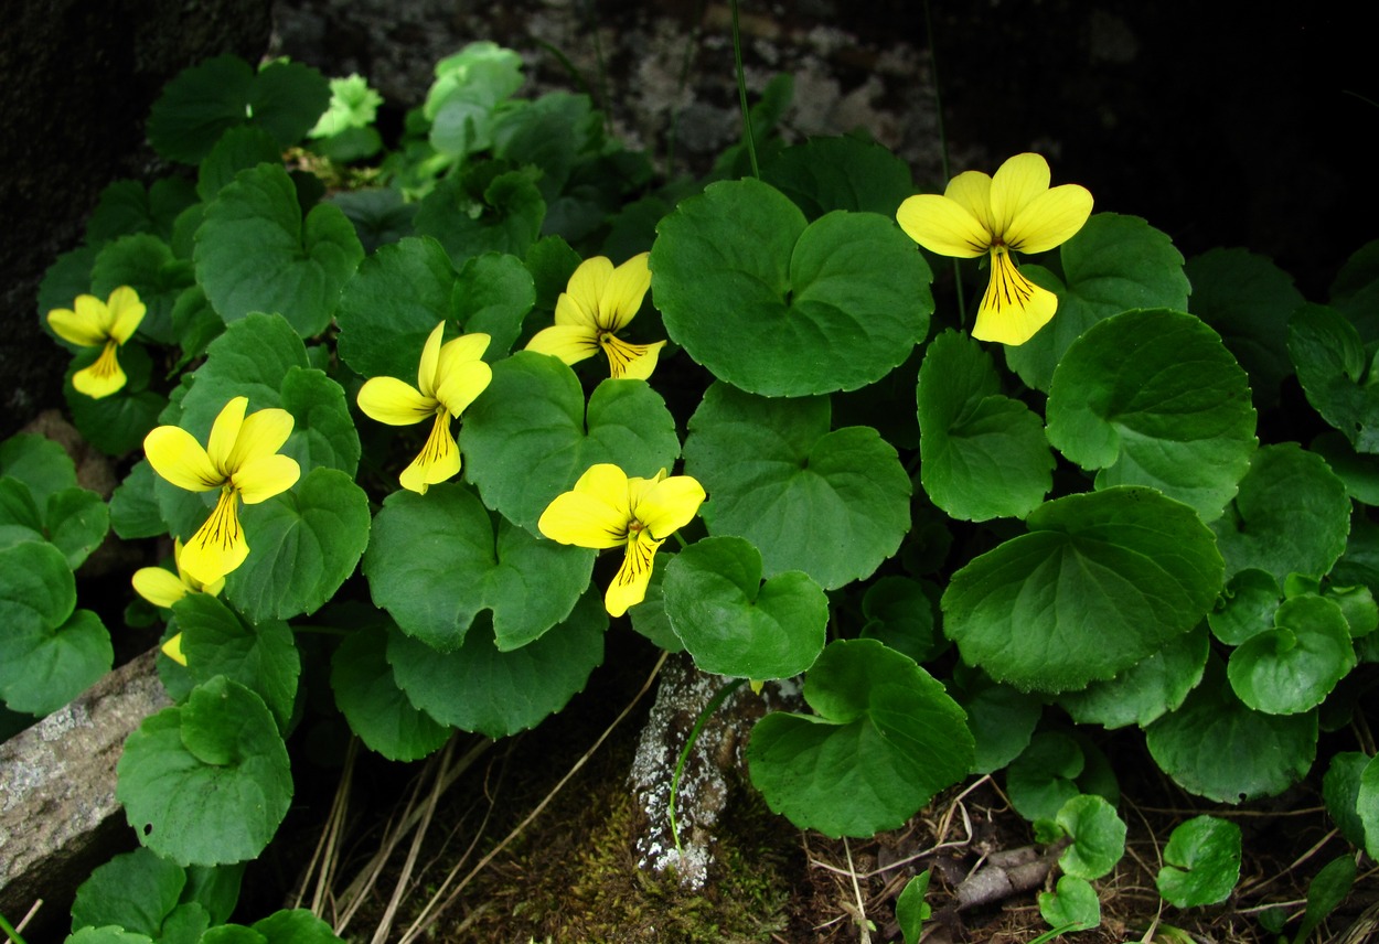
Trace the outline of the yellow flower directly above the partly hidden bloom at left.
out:
[[[178,566],[203,586],[214,584],[250,554],[240,526],[240,500],[258,504],[296,484],[301,466],[279,449],[292,434],[285,409],[244,415],[247,397],[234,397],[211,426],[207,448],[177,426],[160,426],[143,438],[153,471],[189,492],[221,489],[215,510],[182,548]]]

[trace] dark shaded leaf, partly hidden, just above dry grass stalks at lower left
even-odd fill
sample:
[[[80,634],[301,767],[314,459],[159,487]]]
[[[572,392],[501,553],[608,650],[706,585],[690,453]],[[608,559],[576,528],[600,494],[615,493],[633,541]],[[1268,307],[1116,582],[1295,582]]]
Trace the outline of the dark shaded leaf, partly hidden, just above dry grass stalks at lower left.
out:
[[[350,730],[389,761],[419,761],[450,740],[451,729],[407,700],[387,664],[387,633],[363,626],[331,657],[331,690]]]

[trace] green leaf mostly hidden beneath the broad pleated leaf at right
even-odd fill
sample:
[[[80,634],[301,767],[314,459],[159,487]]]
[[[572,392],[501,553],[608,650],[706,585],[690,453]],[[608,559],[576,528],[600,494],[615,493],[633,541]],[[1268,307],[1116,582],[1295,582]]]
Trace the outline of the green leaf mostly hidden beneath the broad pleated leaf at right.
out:
[[[1149,659],[1135,663],[1105,682],[1081,692],[1065,692],[1058,703],[1080,725],[1124,728],[1153,724],[1178,708],[1197,686],[1207,668],[1211,637],[1198,626],[1169,639]]]

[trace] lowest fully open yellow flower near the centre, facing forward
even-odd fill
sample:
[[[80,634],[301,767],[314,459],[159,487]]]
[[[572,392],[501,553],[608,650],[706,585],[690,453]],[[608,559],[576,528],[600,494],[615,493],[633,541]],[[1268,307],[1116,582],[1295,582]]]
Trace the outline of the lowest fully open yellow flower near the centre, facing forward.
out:
[[[656,548],[699,511],[703,486],[690,475],[629,478],[618,466],[590,466],[575,488],[557,495],[536,526],[546,537],[578,547],[626,547],[622,566],[608,584],[604,606],[622,616],[640,604],[651,580]]]

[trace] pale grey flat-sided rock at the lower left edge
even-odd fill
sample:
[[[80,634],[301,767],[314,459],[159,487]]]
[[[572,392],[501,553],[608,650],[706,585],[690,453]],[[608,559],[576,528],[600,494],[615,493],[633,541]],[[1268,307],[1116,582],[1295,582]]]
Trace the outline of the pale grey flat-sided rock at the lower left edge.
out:
[[[36,919],[55,932],[77,885],[134,845],[114,798],[114,765],[130,732],[171,704],[154,655],[0,744],[0,914],[12,922],[43,899]]]

